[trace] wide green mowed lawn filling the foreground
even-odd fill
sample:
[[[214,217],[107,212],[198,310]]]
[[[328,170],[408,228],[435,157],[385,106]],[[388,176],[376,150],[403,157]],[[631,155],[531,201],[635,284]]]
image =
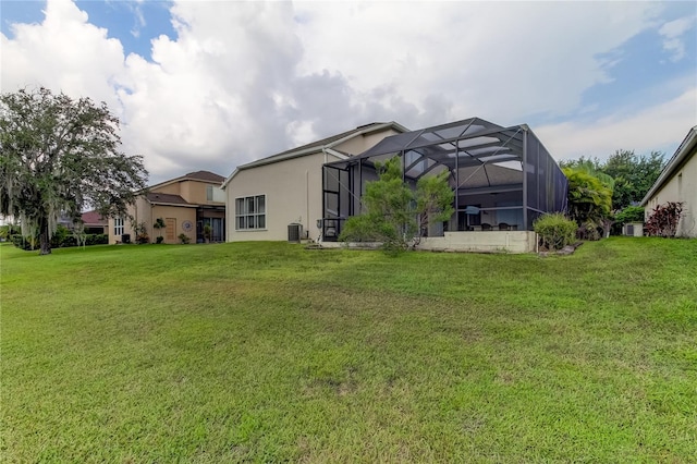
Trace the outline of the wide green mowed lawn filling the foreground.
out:
[[[695,462],[697,241],[0,246],[3,462]]]

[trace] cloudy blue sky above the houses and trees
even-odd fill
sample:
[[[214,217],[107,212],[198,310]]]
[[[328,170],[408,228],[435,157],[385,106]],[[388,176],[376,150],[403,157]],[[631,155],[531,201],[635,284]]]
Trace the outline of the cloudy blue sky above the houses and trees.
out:
[[[697,124],[695,2],[0,1],[2,91],[106,101],[154,182],[372,121],[527,123],[558,159]]]

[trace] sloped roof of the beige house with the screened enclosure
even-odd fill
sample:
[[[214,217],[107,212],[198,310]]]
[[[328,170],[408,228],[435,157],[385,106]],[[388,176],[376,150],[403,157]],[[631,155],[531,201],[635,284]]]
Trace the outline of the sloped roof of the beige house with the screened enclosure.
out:
[[[274,162],[283,161],[291,158],[297,158],[305,155],[316,154],[318,151],[331,149],[333,146],[339,145],[345,141],[348,141],[358,135],[369,134],[371,132],[377,132],[383,129],[392,127],[399,132],[407,132],[408,130],[404,127],[402,124],[399,124],[394,121],[391,122],[372,122],[370,124],[359,125],[356,129],[352,129],[351,131],[342,132],[341,134],[332,135],[331,137],[322,138],[316,142],[311,142],[309,144],[301,145],[299,147],[295,147],[285,151],[278,152],[276,155],[271,155],[266,158],[261,158],[246,164],[241,164],[233,171],[228,179],[222,184],[224,188],[232,178],[242,170],[256,168],[258,166],[271,164]],[[332,150],[332,155],[348,157],[350,154],[343,154],[338,150]]]

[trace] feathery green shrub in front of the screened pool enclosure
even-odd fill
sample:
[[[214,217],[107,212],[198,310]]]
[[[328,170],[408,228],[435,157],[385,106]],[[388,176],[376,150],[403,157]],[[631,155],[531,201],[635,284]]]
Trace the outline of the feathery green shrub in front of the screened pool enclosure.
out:
[[[366,185],[366,212],[346,220],[340,241],[381,242],[383,249],[407,249],[428,224],[448,220],[453,213],[453,192],[448,173],[421,178],[416,191],[402,180],[400,158],[376,163],[380,179]]]

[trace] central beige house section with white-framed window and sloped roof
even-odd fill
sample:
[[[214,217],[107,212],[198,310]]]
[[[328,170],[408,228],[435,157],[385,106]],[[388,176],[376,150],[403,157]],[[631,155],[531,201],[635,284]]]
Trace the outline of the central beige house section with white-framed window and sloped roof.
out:
[[[395,122],[367,124],[237,167],[222,185],[227,240],[281,241],[291,230],[299,237],[319,239],[322,166],[406,131]]]

